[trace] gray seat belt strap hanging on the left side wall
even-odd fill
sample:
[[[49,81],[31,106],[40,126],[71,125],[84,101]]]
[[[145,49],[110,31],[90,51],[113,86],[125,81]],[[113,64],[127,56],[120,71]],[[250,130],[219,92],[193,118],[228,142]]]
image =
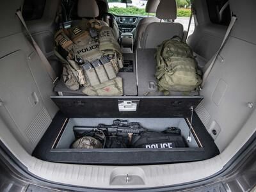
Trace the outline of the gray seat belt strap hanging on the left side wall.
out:
[[[31,33],[28,30],[28,27],[26,26],[26,22],[24,20],[24,18],[22,17],[22,13],[20,12],[20,10],[18,10],[16,12],[17,17],[19,17],[20,22],[22,23],[22,25],[24,26],[24,28],[26,29],[26,31],[28,32],[28,35],[31,38],[31,41],[33,43],[33,47],[35,48],[38,56],[40,57],[40,59],[42,60],[42,63],[44,64],[45,70],[47,71],[47,74],[51,77],[52,82],[55,83],[56,80],[58,79],[58,77],[56,76],[56,73],[54,72],[51,64],[49,63],[49,61],[47,60],[47,58],[45,57],[44,53],[42,52],[42,50],[40,49],[40,47],[38,46],[38,44],[36,44],[33,36],[31,35]]]

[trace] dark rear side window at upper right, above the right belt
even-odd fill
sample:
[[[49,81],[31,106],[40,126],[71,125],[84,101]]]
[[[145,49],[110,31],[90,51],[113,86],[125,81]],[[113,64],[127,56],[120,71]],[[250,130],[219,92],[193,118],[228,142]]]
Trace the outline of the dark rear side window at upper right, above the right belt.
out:
[[[228,0],[207,0],[207,6],[212,23],[228,26],[231,20]]]

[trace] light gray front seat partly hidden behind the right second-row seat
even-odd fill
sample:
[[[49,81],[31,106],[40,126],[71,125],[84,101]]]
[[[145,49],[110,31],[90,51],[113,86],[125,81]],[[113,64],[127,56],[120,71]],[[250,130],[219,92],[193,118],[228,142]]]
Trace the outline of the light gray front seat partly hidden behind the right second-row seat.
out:
[[[160,0],[148,0],[146,9],[145,9],[146,13],[156,13],[157,6],[158,6],[159,2],[160,2]],[[141,47],[140,42],[141,42],[143,33],[144,33],[145,29],[147,28],[148,24],[150,24],[152,22],[160,22],[160,19],[158,19],[156,17],[145,17],[145,18],[141,19],[140,22],[138,23],[138,25],[136,27],[136,31],[135,31],[136,48]]]

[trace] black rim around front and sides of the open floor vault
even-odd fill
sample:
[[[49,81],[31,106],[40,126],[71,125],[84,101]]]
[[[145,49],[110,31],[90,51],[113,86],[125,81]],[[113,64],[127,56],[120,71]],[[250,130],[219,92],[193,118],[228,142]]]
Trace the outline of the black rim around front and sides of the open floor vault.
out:
[[[104,148],[58,149],[52,148],[58,138],[65,116],[58,113],[40,140],[33,156],[44,161],[76,164],[163,164],[201,161],[220,154],[204,124],[194,113],[193,128],[202,143],[198,148]],[[58,140],[57,140],[58,141]]]

